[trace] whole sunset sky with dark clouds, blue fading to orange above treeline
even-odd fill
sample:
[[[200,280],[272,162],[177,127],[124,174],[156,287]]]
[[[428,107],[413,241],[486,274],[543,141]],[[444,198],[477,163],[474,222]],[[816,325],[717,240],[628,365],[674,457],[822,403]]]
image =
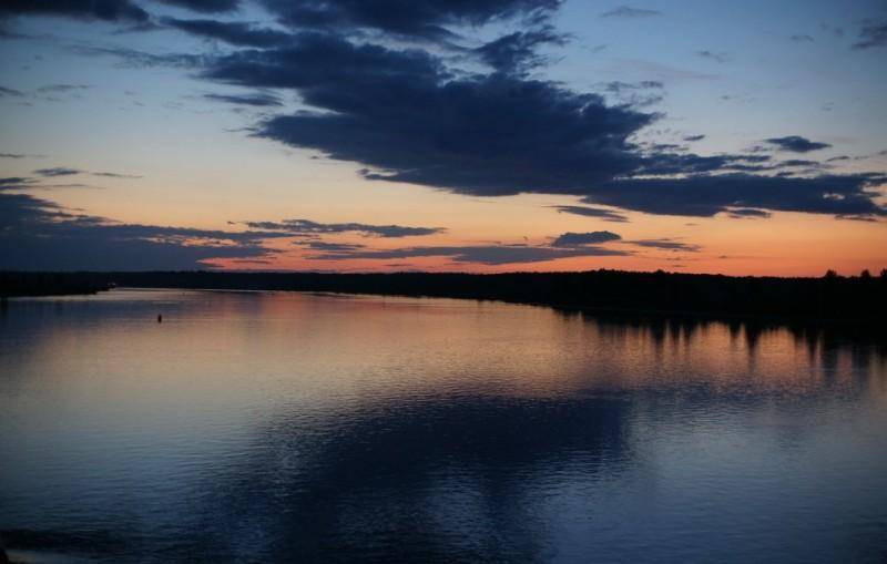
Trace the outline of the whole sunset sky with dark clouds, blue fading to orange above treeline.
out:
[[[6,0],[0,269],[887,267],[887,1]]]

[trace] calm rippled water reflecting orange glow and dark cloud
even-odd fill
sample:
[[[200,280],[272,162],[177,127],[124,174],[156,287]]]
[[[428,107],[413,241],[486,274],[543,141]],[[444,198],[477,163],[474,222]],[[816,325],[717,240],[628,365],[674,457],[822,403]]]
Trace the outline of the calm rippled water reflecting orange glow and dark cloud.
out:
[[[445,299],[11,300],[0,531],[35,561],[885,562],[887,355]]]

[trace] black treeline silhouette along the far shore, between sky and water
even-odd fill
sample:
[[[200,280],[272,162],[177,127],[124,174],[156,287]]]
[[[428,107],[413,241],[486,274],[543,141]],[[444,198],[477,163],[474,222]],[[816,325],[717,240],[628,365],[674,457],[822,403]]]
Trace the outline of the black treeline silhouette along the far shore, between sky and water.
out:
[[[731,277],[593,270],[583,273],[0,273],[0,295],[88,294],[112,286],[296,290],[471,298],[581,308],[712,317],[794,318],[879,324],[887,316],[887,273],[822,278]]]

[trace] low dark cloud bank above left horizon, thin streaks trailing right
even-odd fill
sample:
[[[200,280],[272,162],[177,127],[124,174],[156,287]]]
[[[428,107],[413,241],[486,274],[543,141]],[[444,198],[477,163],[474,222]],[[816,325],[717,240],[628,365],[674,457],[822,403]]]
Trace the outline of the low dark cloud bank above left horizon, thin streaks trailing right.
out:
[[[10,177],[0,181],[16,185],[28,178]],[[234,225],[234,223],[232,223]],[[120,223],[105,217],[89,216],[68,209],[47,199],[30,195],[8,194],[0,189],[0,269],[86,269],[143,270],[192,269],[212,266],[221,259],[236,264],[272,264],[281,253],[266,246],[267,239],[318,237],[326,234],[357,232],[379,237],[406,237],[439,233],[439,228],[402,227],[396,225],[322,224],[308,219],[258,222],[246,230],[201,229],[146,224]],[[361,244],[325,242],[307,238],[296,243],[310,253],[350,258],[350,255],[376,253]],[[415,256],[445,256],[438,250],[401,249]],[[427,247],[428,249],[430,247]],[[449,247],[453,249],[455,247]],[[377,250],[378,253],[388,253]],[[441,254],[443,253],[443,254]],[[582,252],[594,255],[594,250]],[[612,254],[601,250],[600,254]],[[458,257],[457,257],[458,255]],[[457,262],[512,262],[526,255],[538,262],[567,256],[552,249],[541,252],[485,250],[466,248],[453,252]],[[549,257],[549,258],[543,258]],[[574,253],[569,254],[573,256]],[[447,255],[449,256],[449,255]],[[478,260],[473,260],[478,258]]]

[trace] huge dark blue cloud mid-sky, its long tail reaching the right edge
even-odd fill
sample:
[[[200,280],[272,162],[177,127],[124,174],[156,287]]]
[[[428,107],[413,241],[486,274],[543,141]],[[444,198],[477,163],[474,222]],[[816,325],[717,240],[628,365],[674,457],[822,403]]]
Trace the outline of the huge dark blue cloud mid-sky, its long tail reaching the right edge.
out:
[[[205,76],[296,90],[318,111],[274,116],[256,135],[360,163],[369,180],[477,196],[569,194],[675,215],[711,216],[727,207],[883,213],[866,191],[876,181],[870,175],[756,176],[750,173],[781,165],[761,153],[642,151],[629,137],[657,114],[551,82],[452,75],[425,51],[302,33],[286,48],[221,57]],[[825,145],[798,136],[768,142],[802,152]]]

